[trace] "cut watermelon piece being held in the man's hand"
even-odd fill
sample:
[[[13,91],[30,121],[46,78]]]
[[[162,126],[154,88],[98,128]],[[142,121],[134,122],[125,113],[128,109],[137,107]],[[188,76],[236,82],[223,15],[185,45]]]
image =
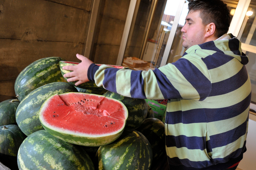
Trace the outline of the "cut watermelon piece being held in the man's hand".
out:
[[[71,62],[71,61],[60,61],[60,71],[62,73],[62,75],[66,74],[66,73],[69,73],[69,72],[72,72],[72,71],[69,71],[69,70],[63,70],[63,66],[75,66],[79,63],[76,63],[76,62]],[[101,66],[101,64],[96,64],[98,66]],[[119,68],[119,69],[128,69],[128,67],[124,67],[124,66],[115,66],[115,65],[107,65],[107,66],[112,66],[112,67],[115,67],[115,68]],[[67,77],[64,77],[65,80],[67,80],[68,78]],[[73,86],[76,86],[75,83],[76,81],[74,82],[69,82],[70,84],[72,84]],[[98,87],[95,82],[93,81],[88,81],[86,83],[83,83],[83,84],[80,84],[78,86],[76,86],[78,88],[82,88],[82,89],[87,89],[87,90],[102,90],[104,89],[102,86],[101,87]]]

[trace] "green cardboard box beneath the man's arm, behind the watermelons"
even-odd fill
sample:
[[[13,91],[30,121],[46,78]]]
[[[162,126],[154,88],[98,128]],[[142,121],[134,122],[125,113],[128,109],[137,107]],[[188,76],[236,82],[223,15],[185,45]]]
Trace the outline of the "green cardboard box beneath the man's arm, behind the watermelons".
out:
[[[155,118],[163,121],[166,105],[160,104],[156,100],[150,100],[150,99],[145,99],[145,100],[154,111]]]

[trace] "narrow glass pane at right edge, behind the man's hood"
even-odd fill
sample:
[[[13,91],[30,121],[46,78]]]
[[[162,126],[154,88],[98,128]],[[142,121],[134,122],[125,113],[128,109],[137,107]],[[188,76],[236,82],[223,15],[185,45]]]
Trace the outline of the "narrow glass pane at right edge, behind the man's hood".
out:
[[[249,57],[249,63],[245,66],[252,84],[252,102],[256,103],[256,54],[247,51],[246,55]]]

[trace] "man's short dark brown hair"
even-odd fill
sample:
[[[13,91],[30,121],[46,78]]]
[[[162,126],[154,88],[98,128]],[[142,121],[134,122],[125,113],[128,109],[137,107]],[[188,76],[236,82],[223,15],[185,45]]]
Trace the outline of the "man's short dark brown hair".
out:
[[[189,12],[200,12],[200,18],[204,26],[214,23],[216,26],[215,36],[220,37],[228,33],[230,26],[230,14],[227,7],[221,0],[196,0],[188,4]]]

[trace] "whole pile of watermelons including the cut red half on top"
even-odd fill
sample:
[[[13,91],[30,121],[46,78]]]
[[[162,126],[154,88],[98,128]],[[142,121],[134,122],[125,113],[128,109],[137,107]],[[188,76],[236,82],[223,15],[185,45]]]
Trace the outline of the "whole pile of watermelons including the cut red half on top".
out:
[[[146,101],[94,82],[76,87],[62,69],[76,64],[48,57],[21,71],[17,99],[0,103],[1,162],[11,170],[169,169],[164,123]]]

